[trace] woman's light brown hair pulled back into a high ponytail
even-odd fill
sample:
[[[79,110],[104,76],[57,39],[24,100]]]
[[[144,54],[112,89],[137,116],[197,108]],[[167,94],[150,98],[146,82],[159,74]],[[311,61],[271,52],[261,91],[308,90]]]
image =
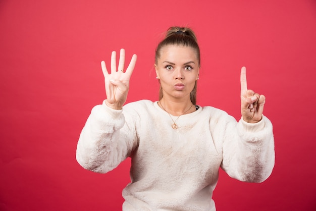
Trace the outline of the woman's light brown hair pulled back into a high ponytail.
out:
[[[197,39],[195,33],[192,29],[187,27],[179,27],[173,26],[170,27],[167,32],[165,38],[158,44],[155,50],[155,63],[157,64],[157,60],[160,58],[161,49],[167,45],[179,45],[179,46],[189,46],[195,49],[196,57],[198,60],[198,66],[200,66],[200,48],[197,44]],[[193,104],[196,104],[196,89],[197,82],[195,81],[194,88],[190,93],[190,100]],[[163,89],[160,86],[159,89],[159,100],[163,98]]]

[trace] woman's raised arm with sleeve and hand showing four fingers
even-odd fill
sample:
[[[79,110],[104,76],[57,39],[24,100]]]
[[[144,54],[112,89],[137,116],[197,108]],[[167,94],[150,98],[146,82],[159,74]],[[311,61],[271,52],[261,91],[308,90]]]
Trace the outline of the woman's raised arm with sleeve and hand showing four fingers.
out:
[[[125,50],[121,49],[119,70],[116,52],[112,52],[111,74],[102,61],[107,100],[91,111],[79,137],[76,159],[85,169],[106,173],[116,168],[134,148],[135,131],[128,127],[122,114],[129,89],[129,80],[136,63],[136,55],[124,72]],[[133,124],[130,122],[129,124]]]

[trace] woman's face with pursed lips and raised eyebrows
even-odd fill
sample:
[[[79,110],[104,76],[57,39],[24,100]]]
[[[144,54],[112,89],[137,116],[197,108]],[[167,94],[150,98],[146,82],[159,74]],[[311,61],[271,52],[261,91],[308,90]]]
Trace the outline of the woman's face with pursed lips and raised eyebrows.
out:
[[[196,50],[188,46],[167,45],[161,48],[155,66],[164,97],[190,98],[198,78]]]

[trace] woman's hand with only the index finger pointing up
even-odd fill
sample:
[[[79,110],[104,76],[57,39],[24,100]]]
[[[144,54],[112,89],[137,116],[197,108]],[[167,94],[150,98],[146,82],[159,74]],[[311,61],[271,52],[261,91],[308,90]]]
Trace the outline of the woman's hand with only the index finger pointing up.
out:
[[[247,88],[246,68],[240,72],[241,115],[248,123],[257,123],[262,118],[266,97]]]

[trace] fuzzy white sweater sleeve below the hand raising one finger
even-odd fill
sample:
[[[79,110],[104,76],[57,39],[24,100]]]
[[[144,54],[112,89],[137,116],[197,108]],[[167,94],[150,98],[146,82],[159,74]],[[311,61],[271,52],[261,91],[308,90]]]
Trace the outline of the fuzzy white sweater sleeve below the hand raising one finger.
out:
[[[265,181],[275,162],[270,120],[262,116],[260,122],[251,124],[241,119],[237,127],[236,123],[228,123],[225,134],[222,169],[240,181]]]

